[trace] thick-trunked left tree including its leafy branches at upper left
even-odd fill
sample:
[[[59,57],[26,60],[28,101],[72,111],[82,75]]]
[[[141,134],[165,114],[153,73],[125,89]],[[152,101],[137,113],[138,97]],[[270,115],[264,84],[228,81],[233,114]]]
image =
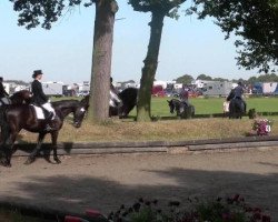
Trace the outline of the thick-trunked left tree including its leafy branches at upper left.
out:
[[[118,11],[116,0],[10,0],[13,10],[19,12],[18,24],[27,29],[41,23],[44,29],[51,29],[66,9],[83,3],[89,7],[96,4],[95,36],[91,67],[91,87],[89,120],[102,121],[108,118],[109,89],[111,73],[111,50],[115,13]]]

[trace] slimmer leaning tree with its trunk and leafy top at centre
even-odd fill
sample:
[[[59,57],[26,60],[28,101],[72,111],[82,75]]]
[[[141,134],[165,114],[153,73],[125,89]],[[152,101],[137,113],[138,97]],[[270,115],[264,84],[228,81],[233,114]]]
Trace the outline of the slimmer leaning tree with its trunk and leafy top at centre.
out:
[[[149,23],[150,39],[140,79],[137,121],[150,121],[151,119],[151,88],[158,65],[163,19],[165,17],[177,18],[177,10],[185,1],[186,0],[129,0],[135,11],[151,12],[151,21]]]

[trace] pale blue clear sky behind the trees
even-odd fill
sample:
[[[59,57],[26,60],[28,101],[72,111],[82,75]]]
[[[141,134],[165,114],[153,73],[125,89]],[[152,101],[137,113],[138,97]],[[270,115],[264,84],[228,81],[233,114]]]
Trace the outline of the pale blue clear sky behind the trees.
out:
[[[115,82],[140,81],[147,54],[150,13],[136,12],[127,1],[118,0],[111,75]],[[186,7],[186,6],[185,6]],[[185,8],[183,7],[183,8]],[[95,7],[76,7],[64,13],[51,30],[19,27],[12,3],[0,1],[0,75],[4,80],[32,81],[33,70],[43,71],[43,81],[64,83],[90,80]],[[197,78],[248,79],[257,70],[236,65],[235,37],[225,33],[210,18],[195,16],[165,19],[156,79],[170,81],[183,74]]]

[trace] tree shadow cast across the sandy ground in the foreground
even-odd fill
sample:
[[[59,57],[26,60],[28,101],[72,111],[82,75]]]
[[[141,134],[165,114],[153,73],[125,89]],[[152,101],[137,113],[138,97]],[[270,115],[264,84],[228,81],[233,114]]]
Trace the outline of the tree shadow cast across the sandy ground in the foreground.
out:
[[[272,163],[257,163],[269,164]],[[277,165],[275,165],[277,167]],[[88,169],[89,170],[89,169]],[[69,172],[75,167],[69,167]],[[100,210],[103,214],[131,205],[138,198],[158,199],[160,202],[179,200],[189,204],[188,198],[214,198],[241,194],[248,203],[269,213],[271,221],[278,221],[278,174],[251,174],[228,171],[143,170],[149,176],[156,175],[175,184],[146,185],[120,184],[105,178],[85,175],[30,176],[28,182],[14,182],[14,192],[0,192],[1,200],[43,206],[53,210],[83,212],[86,209]],[[22,172],[23,173],[23,172]],[[145,179],[142,178],[141,181]],[[23,192],[24,195],[17,194]]]

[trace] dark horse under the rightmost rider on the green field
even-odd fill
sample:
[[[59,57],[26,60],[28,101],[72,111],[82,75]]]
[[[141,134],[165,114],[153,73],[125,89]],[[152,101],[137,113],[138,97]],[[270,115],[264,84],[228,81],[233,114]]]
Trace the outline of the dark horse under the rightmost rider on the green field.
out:
[[[231,90],[227,97],[229,103],[229,119],[241,119],[246,112],[246,104],[242,99],[235,98],[235,91]]]

